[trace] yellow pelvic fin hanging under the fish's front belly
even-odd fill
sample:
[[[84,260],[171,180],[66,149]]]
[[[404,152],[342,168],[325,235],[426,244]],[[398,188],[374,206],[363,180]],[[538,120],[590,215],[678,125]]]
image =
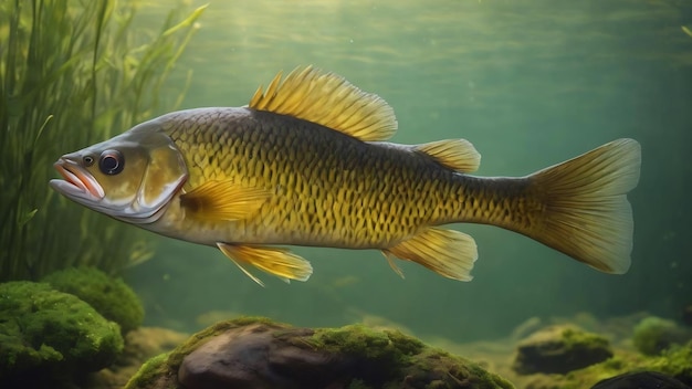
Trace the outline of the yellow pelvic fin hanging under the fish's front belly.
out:
[[[251,264],[286,282],[291,280],[307,281],[313,274],[313,266],[310,262],[286,249],[229,243],[217,243],[217,246],[243,273],[262,286],[264,286],[264,283],[252,275],[244,265]]]

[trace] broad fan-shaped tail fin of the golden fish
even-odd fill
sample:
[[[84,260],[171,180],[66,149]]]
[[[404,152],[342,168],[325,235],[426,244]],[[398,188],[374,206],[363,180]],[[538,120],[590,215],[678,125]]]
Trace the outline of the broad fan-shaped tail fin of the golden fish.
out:
[[[633,232],[627,192],[640,165],[639,143],[618,139],[533,174],[531,192],[544,207],[523,233],[600,271],[626,273]]]

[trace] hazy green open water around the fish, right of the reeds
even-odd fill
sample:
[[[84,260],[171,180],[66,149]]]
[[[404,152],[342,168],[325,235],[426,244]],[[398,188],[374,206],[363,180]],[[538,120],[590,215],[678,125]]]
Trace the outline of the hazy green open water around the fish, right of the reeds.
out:
[[[145,3],[144,22],[165,7]],[[169,85],[182,88],[193,70],[181,108],[244,105],[277,71],[313,64],[384,97],[399,120],[392,141],[471,140],[481,176],[523,176],[638,139],[632,267],[607,275],[515,233],[460,224],[479,246],[470,283],[412,263],[399,263],[401,280],[376,251],[296,248],[311,280],[261,274],[263,288],[213,248],[153,234],[155,257],[125,274],[147,324],[196,330],[199,315],[220,311],[305,326],[389,322],[464,341],[534,316],[677,317],[692,302],[685,24],[690,1],[212,1]]]

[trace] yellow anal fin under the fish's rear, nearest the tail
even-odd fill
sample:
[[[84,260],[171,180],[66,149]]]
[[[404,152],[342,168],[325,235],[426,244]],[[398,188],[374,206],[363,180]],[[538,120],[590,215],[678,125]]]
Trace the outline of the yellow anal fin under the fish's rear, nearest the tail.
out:
[[[465,233],[427,228],[417,235],[382,250],[397,274],[402,275],[391,255],[419,263],[448,278],[471,281],[471,269],[479,257],[475,241]]]

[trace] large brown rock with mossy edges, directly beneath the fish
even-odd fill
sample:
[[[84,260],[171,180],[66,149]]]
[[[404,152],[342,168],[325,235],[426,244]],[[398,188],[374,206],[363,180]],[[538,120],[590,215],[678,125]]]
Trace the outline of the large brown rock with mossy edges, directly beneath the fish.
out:
[[[127,388],[513,388],[399,332],[219,323],[147,362]]]

